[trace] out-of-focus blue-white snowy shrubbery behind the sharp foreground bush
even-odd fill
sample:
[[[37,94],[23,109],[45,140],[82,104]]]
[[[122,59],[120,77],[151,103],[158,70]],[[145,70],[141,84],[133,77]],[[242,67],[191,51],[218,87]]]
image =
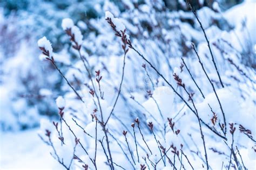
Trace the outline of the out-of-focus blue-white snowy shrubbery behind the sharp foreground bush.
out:
[[[195,9],[213,9],[213,0],[192,0]],[[241,3],[241,0],[217,1],[221,11]],[[147,5],[151,4],[151,6]],[[152,9],[159,15],[160,10],[190,11],[184,1],[46,1],[46,0],[10,0],[0,2],[0,91],[1,91],[1,119],[0,127],[3,131],[24,130],[35,128],[39,125],[39,117],[55,116],[56,106],[53,100],[62,95],[60,88],[63,83],[61,77],[47,62],[38,59],[40,51],[37,40],[46,36],[53,46],[53,52],[61,53],[69,51],[69,41],[61,27],[63,18],[69,17],[77,23],[84,37],[91,35],[100,37],[100,31],[94,25],[98,18],[105,15],[106,10],[114,10],[114,15],[131,13],[136,8],[145,13]],[[185,6],[184,6],[185,5]],[[147,7],[149,9],[147,9]],[[207,13],[206,13],[207,15]],[[126,16],[127,20],[133,20]],[[178,16],[177,16],[178,17]],[[134,19],[135,20],[135,19]],[[133,20],[133,22],[134,22]],[[180,18],[182,22],[193,24],[190,17]],[[145,36],[153,34],[151,20],[145,18],[139,21],[140,32],[137,27],[132,28],[133,39],[151,39]],[[215,22],[215,23],[214,23]],[[215,20],[213,23],[221,30],[231,28],[225,27],[221,22]],[[158,27],[158,26],[156,26]],[[161,24],[162,29],[166,27]],[[142,33],[144,36],[142,36]],[[162,36],[164,37],[164,36]],[[184,43],[180,37],[180,44]],[[184,52],[185,53],[185,52]],[[75,59],[74,59],[75,60]]]

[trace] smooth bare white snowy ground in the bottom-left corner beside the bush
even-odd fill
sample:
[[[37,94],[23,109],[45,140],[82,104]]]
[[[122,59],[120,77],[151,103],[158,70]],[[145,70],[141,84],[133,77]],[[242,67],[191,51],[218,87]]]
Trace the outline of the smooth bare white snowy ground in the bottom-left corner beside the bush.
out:
[[[0,133],[0,169],[53,169],[56,164],[38,129]]]

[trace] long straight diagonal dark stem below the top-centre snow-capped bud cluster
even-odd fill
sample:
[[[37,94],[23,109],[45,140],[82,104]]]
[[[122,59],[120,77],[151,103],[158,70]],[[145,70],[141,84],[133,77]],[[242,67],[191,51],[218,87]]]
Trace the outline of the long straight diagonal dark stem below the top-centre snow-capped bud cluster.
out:
[[[174,91],[174,93],[177,94],[177,95],[179,96],[179,98],[187,105],[187,107],[194,113],[194,115],[196,115],[196,111],[194,111],[194,110],[190,107],[190,105],[185,101],[185,99],[178,93],[177,90],[175,90],[175,89],[173,88],[172,84],[170,84],[169,81],[167,81],[167,80],[165,79],[165,77],[156,69],[156,67],[154,67],[154,66],[152,65],[152,63],[151,63],[149,60],[147,60],[142,54],[140,54],[140,53],[137,51],[136,48],[134,48],[134,47],[130,47],[130,48],[132,48],[139,56],[141,56],[141,57],[143,58],[143,60],[145,60],[147,63],[149,63],[149,65],[153,68],[153,70],[155,70],[155,72],[156,72],[162,79],[164,79],[164,81],[168,84],[168,86],[170,86],[170,87],[172,88],[172,90]],[[213,133],[217,134],[217,136],[219,136],[219,137],[221,137],[221,138],[227,140],[226,137],[222,136],[222,135],[219,134],[218,132],[215,132],[215,131],[214,131],[209,125],[207,125],[201,118],[200,118],[200,121],[201,121],[204,125],[206,125],[207,128],[210,129]]]

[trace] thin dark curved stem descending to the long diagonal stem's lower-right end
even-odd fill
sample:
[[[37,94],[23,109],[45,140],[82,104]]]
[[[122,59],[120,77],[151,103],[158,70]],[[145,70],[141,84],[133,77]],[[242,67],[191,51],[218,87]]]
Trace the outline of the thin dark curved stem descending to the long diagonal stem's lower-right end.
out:
[[[193,49],[194,49],[194,52],[197,54],[197,58],[198,58],[198,60],[199,60],[199,63],[200,63],[200,65],[201,65],[201,67],[202,67],[202,69],[203,69],[203,71],[204,71],[204,73],[205,73],[205,75],[206,75],[208,81],[210,82],[210,84],[211,84],[211,86],[212,86],[212,89],[213,89],[213,91],[214,91],[214,94],[215,94],[215,96],[216,96],[216,98],[217,98],[217,100],[218,100],[218,103],[219,103],[219,105],[220,105],[220,110],[221,110],[221,113],[222,113],[222,115],[223,115],[224,125],[225,125],[225,132],[224,132],[224,135],[226,136],[226,133],[227,133],[226,117],[225,117],[225,114],[224,114],[222,105],[221,105],[221,103],[220,103],[219,97],[218,97],[218,95],[217,95],[217,93],[216,93],[214,84],[212,83],[210,77],[208,76],[208,74],[207,74],[206,71],[205,71],[203,62],[201,62],[200,57],[199,57],[199,55],[198,55],[198,53],[197,53],[197,50],[196,50],[196,47],[194,46],[194,44],[192,44],[192,47],[193,47]]]

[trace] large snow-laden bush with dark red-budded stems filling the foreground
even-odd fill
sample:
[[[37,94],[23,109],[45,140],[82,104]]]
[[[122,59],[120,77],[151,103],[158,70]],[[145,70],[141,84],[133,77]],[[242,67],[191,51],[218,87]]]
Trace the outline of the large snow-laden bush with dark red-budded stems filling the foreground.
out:
[[[121,12],[107,1],[86,37],[63,19],[76,57],[65,72],[59,64],[68,59],[45,37],[38,41],[41,59],[65,81],[59,120],[42,121],[39,132],[56,168],[254,167],[255,70],[244,65],[241,45],[256,39],[232,23],[237,9],[170,12],[157,2],[126,3]]]

